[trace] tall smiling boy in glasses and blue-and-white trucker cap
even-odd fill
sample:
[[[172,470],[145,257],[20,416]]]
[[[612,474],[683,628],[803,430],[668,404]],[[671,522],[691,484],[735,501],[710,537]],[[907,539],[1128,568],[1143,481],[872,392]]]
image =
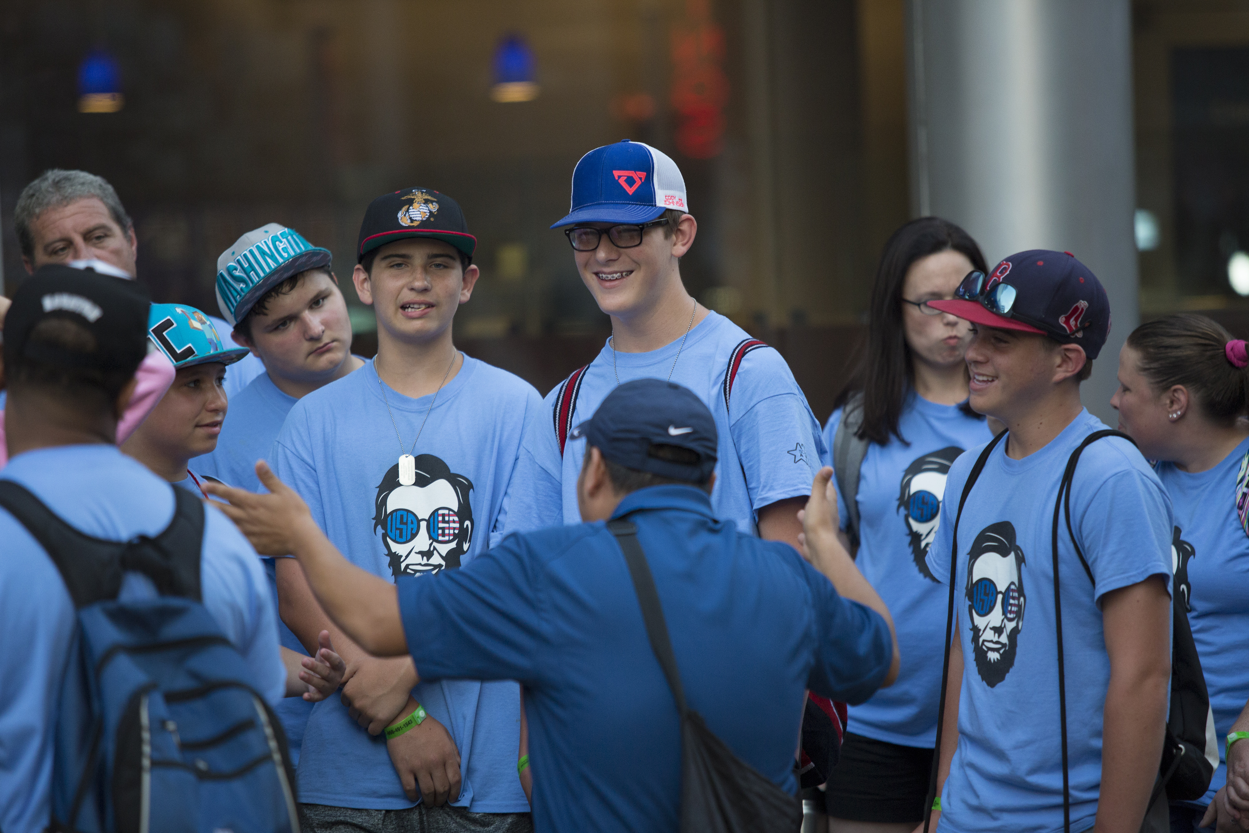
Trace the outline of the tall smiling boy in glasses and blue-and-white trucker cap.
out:
[[[684,385],[716,417],[717,517],[797,546],[797,511],[824,453],[819,423],[778,352],[686,291],[681,257],[698,224],[676,162],[642,142],[590,151],[572,174],[572,210],[552,229],[568,236],[612,337],[546,397],[555,427],[526,447],[522,511],[555,502],[566,523],[578,521],[586,443],[568,430],[616,386],[649,376]]]

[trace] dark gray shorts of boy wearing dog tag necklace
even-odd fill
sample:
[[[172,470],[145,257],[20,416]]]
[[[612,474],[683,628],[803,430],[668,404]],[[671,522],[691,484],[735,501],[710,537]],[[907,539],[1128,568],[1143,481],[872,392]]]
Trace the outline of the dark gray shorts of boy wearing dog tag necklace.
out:
[[[470,813],[462,807],[356,809],[300,804],[306,833],[532,833],[528,813]]]

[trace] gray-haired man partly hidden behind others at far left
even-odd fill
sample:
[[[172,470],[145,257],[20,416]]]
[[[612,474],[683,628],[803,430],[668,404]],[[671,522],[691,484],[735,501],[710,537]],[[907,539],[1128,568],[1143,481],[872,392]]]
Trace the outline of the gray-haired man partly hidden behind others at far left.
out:
[[[75,266],[77,261],[91,260],[102,261],[129,277],[136,275],[135,224],[102,176],[57,167],[44,171],[17,196],[14,231],[21,247],[21,262],[31,275],[46,264]],[[231,328],[220,318],[212,318],[212,323],[217,332]],[[226,376],[226,396],[234,396],[262,372],[265,366],[256,356],[237,362]]]

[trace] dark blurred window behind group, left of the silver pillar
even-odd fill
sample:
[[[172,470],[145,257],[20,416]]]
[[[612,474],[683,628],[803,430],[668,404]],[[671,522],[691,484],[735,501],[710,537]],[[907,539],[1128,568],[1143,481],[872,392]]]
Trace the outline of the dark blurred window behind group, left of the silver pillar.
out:
[[[532,52],[528,101],[492,97],[510,36]],[[9,0],[0,39],[10,292],[17,194],[80,167],[134,217],[156,300],[215,310],[217,255],[276,221],[333,251],[371,353],[348,286],[360,219],[421,185],[480,241],[457,345],[546,392],[610,332],[548,226],[581,155],[628,137],[684,172],[689,290],[778,347],[823,420],[907,219],[901,0]],[[97,54],[121,106],[80,112]]]

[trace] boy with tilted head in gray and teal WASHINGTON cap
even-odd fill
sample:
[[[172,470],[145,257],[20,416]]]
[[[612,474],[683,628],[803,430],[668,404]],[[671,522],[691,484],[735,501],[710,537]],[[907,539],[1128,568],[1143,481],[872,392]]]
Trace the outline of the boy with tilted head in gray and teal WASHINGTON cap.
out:
[[[291,407],[306,393],[342,378],[365,362],[351,355],[351,317],[331,271],[327,249],[294,229],[270,222],[241,236],[217,257],[217,306],[235,343],[265,363],[265,372],[230,398],[230,418],[217,447],[191,465],[196,473],[256,491],[256,461],[267,457]],[[265,559],[277,604],[274,559]],[[282,647],[304,646],[279,622]],[[285,699],[275,707],[291,759],[299,763],[312,704]]]

